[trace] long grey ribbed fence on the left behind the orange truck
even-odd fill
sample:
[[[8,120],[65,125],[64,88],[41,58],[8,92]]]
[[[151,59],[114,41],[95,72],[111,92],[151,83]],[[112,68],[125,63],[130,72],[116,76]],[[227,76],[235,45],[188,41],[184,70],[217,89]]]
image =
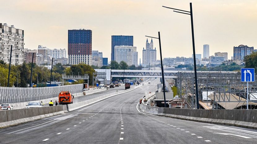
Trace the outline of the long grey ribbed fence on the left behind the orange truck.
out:
[[[83,84],[72,84],[41,88],[0,87],[0,104],[42,100],[52,97],[58,97],[61,91],[80,93],[82,92],[82,89]]]

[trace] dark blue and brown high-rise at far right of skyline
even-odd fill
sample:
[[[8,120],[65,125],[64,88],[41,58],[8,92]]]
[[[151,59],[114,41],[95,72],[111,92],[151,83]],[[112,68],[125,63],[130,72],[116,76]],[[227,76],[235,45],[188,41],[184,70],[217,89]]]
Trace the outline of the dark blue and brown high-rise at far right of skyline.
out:
[[[234,47],[234,60],[244,60],[244,57],[250,55],[254,51],[253,47],[248,47],[247,45],[239,45]]]

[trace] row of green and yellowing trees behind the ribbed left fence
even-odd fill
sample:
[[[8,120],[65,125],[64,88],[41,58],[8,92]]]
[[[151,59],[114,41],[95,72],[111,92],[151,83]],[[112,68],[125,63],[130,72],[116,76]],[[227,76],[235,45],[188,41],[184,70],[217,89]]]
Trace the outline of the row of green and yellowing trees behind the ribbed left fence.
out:
[[[0,60],[0,86],[7,86],[8,81],[8,70],[9,64],[4,63]],[[92,83],[92,75],[94,69],[87,65],[87,64],[77,64],[71,66],[63,66],[62,64],[58,63],[53,66],[52,70],[52,78],[51,81],[61,81],[62,82],[62,74],[66,73],[66,75],[89,75],[89,84]],[[26,87],[26,84],[30,82],[30,73],[31,73],[31,63],[26,64],[23,63],[22,65],[11,65],[10,71],[10,80],[9,86],[12,87]],[[45,66],[38,66],[33,64],[33,72],[32,72],[32,83],[45,83],[50,81],[50,70]],[[78,81],[79,83],[84,83],[86,81]],[[78,83],[76,82],[76,83]],[[68,83],[67,83],[68,84]]]

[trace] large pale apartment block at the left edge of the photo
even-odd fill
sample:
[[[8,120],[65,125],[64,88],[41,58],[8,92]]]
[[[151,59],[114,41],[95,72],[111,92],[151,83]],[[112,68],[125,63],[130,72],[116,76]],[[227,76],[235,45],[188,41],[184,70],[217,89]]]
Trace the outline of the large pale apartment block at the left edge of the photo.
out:
[[[24,61],[24,30],[16,29],[13,25],[0,23],[0,60],[9,64],[12,45],[11,64],[20,65]],[[15,50],[19,49],[19,50]]]

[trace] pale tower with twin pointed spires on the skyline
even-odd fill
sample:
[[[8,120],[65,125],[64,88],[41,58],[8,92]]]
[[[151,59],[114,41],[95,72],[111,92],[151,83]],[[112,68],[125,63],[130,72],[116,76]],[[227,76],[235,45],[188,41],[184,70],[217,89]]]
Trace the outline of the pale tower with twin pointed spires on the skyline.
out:
[[[148,39],[146,39],[146,49],[143,48],[143,65],[153,65],[156,62],[156,48],[153,49],[154,43],[153,39],[148,43]]]

